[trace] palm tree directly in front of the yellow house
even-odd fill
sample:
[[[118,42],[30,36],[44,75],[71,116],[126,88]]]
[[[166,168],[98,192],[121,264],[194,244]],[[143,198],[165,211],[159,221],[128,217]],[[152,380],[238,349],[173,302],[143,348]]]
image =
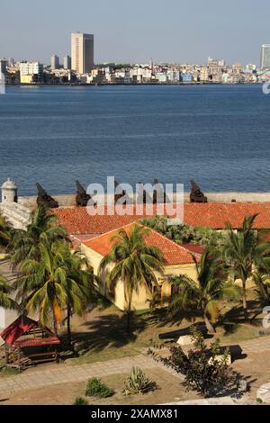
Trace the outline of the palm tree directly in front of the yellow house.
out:
[[[153,284],[157,284],[155,272],[163,273],[162,253],[157,247],[147,245],[145,238],[148,233],[149,229],[139,224],[134,224],[130,233],[120,229],[112,236],[111,251],[103,258],[99,268],[99,273],[108,271],[110,289],[113,290],[119,281],[124,285],[129,331],[133,293],[139,293],[141,286],[151,293]]]

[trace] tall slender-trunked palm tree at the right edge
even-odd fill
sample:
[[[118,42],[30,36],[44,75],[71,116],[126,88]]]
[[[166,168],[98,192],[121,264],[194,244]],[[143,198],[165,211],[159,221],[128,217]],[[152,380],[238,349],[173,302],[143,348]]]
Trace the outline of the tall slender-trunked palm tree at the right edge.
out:
[[[235,232],[227,225],[228,234],[224,241],[223,257],[242,283],[242,302],[245,320],[248,320],[247,310],[247,279],[254,277],[256,268],[269,266],[270,243],[259,243],[257,233],[253,229],[257,214],[247,216],[242,229]]]

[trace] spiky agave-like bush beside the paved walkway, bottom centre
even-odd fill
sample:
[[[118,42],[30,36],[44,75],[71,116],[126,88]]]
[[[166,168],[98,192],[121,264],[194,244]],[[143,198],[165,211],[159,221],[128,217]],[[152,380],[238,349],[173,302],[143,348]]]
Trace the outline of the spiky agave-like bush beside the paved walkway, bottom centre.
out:
[[[122,393],[123,395],[142,395],[156,389],[157,383],[148,379],[139,367],[133,367],[124,383]]]

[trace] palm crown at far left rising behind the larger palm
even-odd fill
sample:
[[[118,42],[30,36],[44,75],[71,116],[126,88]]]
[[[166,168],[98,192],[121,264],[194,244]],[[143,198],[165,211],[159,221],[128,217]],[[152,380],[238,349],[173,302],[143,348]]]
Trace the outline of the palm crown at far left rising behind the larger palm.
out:
[[[31,214],[31,222],[26,230],[14,230],[9,244],[12,253],[12,264],[19,266],[25,259],[40,258],[40,242],[53,243],[56,240],[67,240],[66,230],[57,225],[57,216],[39,206]]]

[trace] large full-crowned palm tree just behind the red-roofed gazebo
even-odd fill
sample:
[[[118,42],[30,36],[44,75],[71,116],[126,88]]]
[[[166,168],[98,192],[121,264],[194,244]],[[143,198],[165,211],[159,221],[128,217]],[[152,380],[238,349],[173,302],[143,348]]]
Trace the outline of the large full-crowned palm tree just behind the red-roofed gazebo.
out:
[[[85,260],[72,253],[65,242],[40,244],[40,259],[26,259],[19,267],[22,276],[16,281],[18,299],[23,310],[38,312],[40,322],[52,318],[54,332],[67,311],[67,338],[71,344],[70,318],[81,313],[94,299],[94,275],[85,267]]]

